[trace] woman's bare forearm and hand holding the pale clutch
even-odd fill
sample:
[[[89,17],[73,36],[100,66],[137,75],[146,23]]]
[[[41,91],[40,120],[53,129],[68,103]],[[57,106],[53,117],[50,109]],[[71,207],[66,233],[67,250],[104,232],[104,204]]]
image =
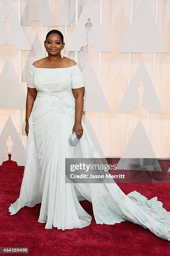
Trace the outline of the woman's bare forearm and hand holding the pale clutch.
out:
[[[83,115],[83,107],[84,107],[84,93],[85,88],[77,88],[72,89],[74,98],[76,99],[75,102],[75,123],[73,126],[73,133],[76,132],[77,138],[80,139],[83,135],[83,127],[81,125],[81,118]]]

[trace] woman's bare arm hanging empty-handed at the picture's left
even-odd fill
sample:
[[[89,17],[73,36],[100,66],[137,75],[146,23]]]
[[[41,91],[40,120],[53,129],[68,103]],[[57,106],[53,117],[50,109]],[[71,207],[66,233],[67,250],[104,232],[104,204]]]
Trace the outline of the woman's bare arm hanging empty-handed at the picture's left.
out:
[[[37,90],[36,88],[30,88],[30,87],[27,87],[27,88],[28,88],[28,91],[27,91],[27,99],[26,99],[25,132],[28,136],[28,131],[29,131],[28,119],[30,117],[30,113],[33,108],[33,103],[36,100]]]

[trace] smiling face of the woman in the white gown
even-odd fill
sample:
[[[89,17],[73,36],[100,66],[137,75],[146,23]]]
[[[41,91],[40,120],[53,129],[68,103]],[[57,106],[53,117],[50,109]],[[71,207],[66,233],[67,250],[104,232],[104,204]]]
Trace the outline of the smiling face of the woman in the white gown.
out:
[[[46,42],[44,41],[44,46],[49,55],[61,55],[64,44],[62,44],[61,37],[56,33],[50,34]]]

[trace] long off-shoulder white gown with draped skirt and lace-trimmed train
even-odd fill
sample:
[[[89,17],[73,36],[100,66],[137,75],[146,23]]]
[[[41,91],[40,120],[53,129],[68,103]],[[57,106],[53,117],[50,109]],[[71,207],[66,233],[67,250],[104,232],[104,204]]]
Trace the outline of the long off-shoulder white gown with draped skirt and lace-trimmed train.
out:
[[[76,64],[67,68],[30,67],[27,86],[36,88],[37,97],[28,120],[29,133],[25,170],[19,198],[10,204],[10,215],[24,206],[41,203],[38,222],[45,228],[84,228],[91,216],[81,207],[76,191],[92,202],[97,224],[128,220],[170,241],[170,212],[157,197],[150,200],[137,191],[125,195],[116,183],[65,183],[65,158],[100,158],[83,120],[83,135],[69,145],[75,119],[72,88],[84,87]],[[81,154],[80,154],[81,152]],[[78,190],[75,190],[76,189]],[[104,227],[103,227],[104,228]]]

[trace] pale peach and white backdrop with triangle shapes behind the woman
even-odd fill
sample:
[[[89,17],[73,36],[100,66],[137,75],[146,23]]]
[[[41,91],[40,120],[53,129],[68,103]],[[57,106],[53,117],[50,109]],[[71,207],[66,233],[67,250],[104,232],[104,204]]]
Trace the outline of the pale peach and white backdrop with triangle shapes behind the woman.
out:
[[[8,0],[5,2],[7,3]],[[142,2],[141,0],[89,1],[91,4],[91,12],[89,11],[88,13],[89,16],[86,15],[86,13],[83,14],[83,10],[86,7],[86,1],[77,1],[80,9],[76,9],[74,1],[65,2],[64,0],[48,0],[48,3],[45,3],[47,1],[35,0],[29,2],[31,6],[36,6],[36,11],[34,13],[33,9],[31,9],[31,11],[28,12],[29,9],[27,9],[27,15],[25,15],[26,0],[10,1],[17,18],[19,17],[18,20],[20,21],[21,18],[20,22],[22,25],[27,25],[21,27],[23,34],[20,31],[18,33],[18,25],[15,24],[15,19],[12,20],[12,14],[8,13],[8,15],[6,15],[3,12],[4,17],[6,15],[5,22],[1,15],[0,141],[2,142],[2,132],[4,132],[9,115],[18,131],[18,135],[20,134],[20,129],[22,129],[22,126],[20,125],[21,113],[23,117],[23,128],[25,128],[25,108],[23,108],[23,104],[21,107],[18,107],[23,108],[22,112],[19,109],[13,109],[14,107],[9,105],[11,101],[14,101],[15,103],[16,101],[18,102],[18,100],[16,100],[18,95],[15,94],[16,90],[14,90],[13,86],[15,85],[15,89],[20,86],[20,89],[22,90],[18,89],[20,91],[19,95],[23,95],[23,92],[25,92],[26,97],[27,87],[25,77],[28,72],[29,61],[33,62],[36,59],[41,59],[45,56],[43,42],[46,33],[51,29],[58,29],[63,33],[64,42],[66,43],[62,54],[71,59],[75,59],[79,63],[84,74],[86,91],[90,92],[92,89],[93,98],[98,101],[98,103],[104,98],[107,100],[107,102],[103,101],[103,105],[98,104],[99,107],[101,106],[100,114],[96,112],[96,110],[94,111],[94,107],[97,104],[95,100],[92,106],[90,106],[91,102],[87,101],[85,105],[85,110],[88,110],[86,111],[86,117],[89,118],[94,133],[99,139],[104,155],[106,157],[121,157],[127,142],[131,138],[139,120],[141,120],[155,156],[157,158],[169,158],[170,0],[147,0],[144,1],[145,3],[142,3],[147,4],[150,8],[152,14],[151,20],[148,20],[149,18],[147,19],[147,9],[145,9],[146,15],[142,14],[142,7],[140,6]],[[68,5],[68,8],[66,8],[65,3],[70,4]],[[48,4],[49,12],[46,10],[47,8],[45,4]],[[3,1],[0,1],[0,8],[2,8],[2,6]],[[18,6],[20,6],[19,9]],[[95,11],[93,10],[93,7]],[[139,11],[140,7],[141,11],[138,14],[139,19],[137,19],[137,11]],[[146,6],[144,7],[146,8]],[[79,22],[75,19],[75,10],[80,10],[78,16]],[[83,18],[81,17],[81,14],[84,15]],[[90,23],[92,25],[89,28],[85,26],[85,24],[88,23],[87,17],[90,18]],[[26,22],[29,20],[31,21],[32,18],[37,20],[30,22],[30,26],[28,26],[29,24]],[[133,23],[135,18],[137,23],[133,25],[132,31],[129,32],[129,24],[131,23],[131,20]],[[156,32],[154,31],[152,20],[157,23]],[[102,23],[101,27],[99,26],[100,22]],[[45,25],[47,24],[50,24],[50,26],[46,27]],[[55,26],[56,24],[58,24],[58,26]],[[75,25],[77,26],[77,32],[75,30]],[[135,26],[139,28],[138,31],[135,31]],[[145,29],[142,30],[143,28]],[[81,35],[83,31],[86,32],[86,29],[89,31],[88,47],[84,44],[83,36]],[[12,31],[13,33],[11,34]],[[155,40],[154,36],[157,31],[159,32],[160,38]],[[74,36],[74,33],[76,34],[76,37]],[[127,37],[128,33],[129,37]],[[7,43],[3,41],[3,34],[6,35]],[[141,34],[142,40],[139,41],[138,38]],[[11,35],[13,36],[13,40],[11,39]],[[155,40],[154,44],[152,40]],[[38,44],[41,45],[41,50],[39,50],[39,47],[36,47]],[[78,49],[79,46],[81,51]],[[135,46],[139,46],[140,49],[135,49]],[[32,51],[28,47],[30,47]],[[69,51],[66,51],[66,49]],[[78,51],[78,59],[74,58],[76,56],[76,51]],[[101,51],[101,53],[99,53],[99,51]],[[132,52],[130,55],[128,54],[129,51]],[[154,54],[153,52],[156,53]],[[132,93],[130,92],[131,98],[126,98],[125,95],[128,96],[127,89],[130,86],[130,82],[132,82],[141,61],[146,68],[152,86],[150,85],[149,87],[149,82],[147,83],[145,79],[145,81],[142,81],[146,73],[143,74],[140,71],[142,76],[138,76],[138,79],[134,83]],[[15,73],[11,72],[11,69],[14,69],[16,72],[18,81],[15,77]],[[87,79],[88,70],[91,70],[91,84],[89,79]],[[9,76],[8,71],[10,71],[12,78]],[[22,83],[20,84],[21,79]],[[97,88],[98,90],[100,89],[99,86],[101,86],[101,99],[95,97]],[[151,88],[152,90],[149,90],[148,88]],[[144,89],[147,89],[145,91],[146,95],[144,94]],[[147,98],[147,100],[145,100],[146,104],[144,105],[142,105],[142,95],[143,100]],[[22,97],[24,98],[24,95]],[[124,113],[117,112],[124,97],[126,103],[125,107],[127,108],[133,100],[135,102],[135,97],[139,98],[137,107],[132,108],[132,111],[129,114],[126,113],[126,110],[124,110]],[[23,100],[23,98],[21,98],[21,100]],[[102,108],[107,108],[106,104],[108,104],[111,112],[102,111]],[[133,106],[134,105],[132,104],[132,107]],[[150,106],[150,109],[148,109],[148,106]],[[91,109],[91,111],[89,111],[89,109]],[[10,152],[13,139],[11,141],[10,133],[8,135],[9,137],[8,140],[6,139],[6,144],[9,146],[8,151]],[[27,136],[23,135],[21,137],[23,146],[26,148]],[[2,145],[4,146],[4,144],[1,143],[0,145],[1,151]]]

